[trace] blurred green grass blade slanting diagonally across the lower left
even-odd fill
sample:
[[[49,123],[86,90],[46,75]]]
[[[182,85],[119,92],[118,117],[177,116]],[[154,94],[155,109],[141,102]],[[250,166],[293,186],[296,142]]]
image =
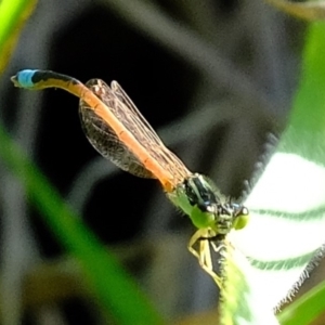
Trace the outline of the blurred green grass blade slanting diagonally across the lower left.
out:
[[[0,123],[0,157],[25,186],[35,207],[62,245],[80,262],[106,315],[118,324],[164,324],[148,299]],[[109,213],[109,211],[107,211]],[[113,216],[115,212],[110,211]]]

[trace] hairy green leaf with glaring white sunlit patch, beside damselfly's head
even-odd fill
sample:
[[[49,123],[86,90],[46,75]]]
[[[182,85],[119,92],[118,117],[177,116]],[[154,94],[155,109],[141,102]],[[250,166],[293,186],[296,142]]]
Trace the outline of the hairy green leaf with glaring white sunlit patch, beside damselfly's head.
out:
[[[313,268],[311,261],[323,255],[324,35],[324,23],[310,26],[301,81],[288,127],[245,202],[250,210],[248,225],[229,235],[235,248],[234,253],[225,257],[224,276],[227,286],[233,289],[231,294],[227,286],[222,290],[222,317],[230,310],[227,300],[233,303],[235,299],[236,308],[231,311],[233,324],[274,324],[273,309],[297,291]],[[238,258],[243,255],[248,265],[245,265],[243,258]],[[227,265],[233,265],[233,270]],[[309,324],[301,320],[314,318],[320,310],[314,308],[311,313],[301,311],[306,316],[299,320],[299,324]]]

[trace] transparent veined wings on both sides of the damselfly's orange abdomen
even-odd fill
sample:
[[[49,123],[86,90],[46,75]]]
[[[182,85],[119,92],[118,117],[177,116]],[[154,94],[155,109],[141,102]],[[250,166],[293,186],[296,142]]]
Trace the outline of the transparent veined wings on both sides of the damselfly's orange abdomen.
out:
[[[172,176],[171,183],[178,184],[191,174],[184,164],[164,145],[157,133],[116,81],[112,82],[110,88],[101,79],[92,79],[86,86],[106,104],[125,128],[146,150],[151,158]],[[145,168],[143,161],[139,160],[132,147],[122,143],[109,125],[83,101],[80,101],[79,114],[88,140],[104,157],[138,177],[156,178]]]

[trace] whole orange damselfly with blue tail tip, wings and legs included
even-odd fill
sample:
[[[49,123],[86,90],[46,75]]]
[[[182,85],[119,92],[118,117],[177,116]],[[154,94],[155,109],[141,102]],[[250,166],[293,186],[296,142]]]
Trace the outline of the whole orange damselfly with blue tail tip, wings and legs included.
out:
[[[122,88],[101,79],[86,84],[50,70],[21,70],[11,79],[16,87],[30,90],[61,88],[80,98],[82,129],[94,148],[122,170],[157,179],[168,198],[190,217],[197,231],[188,250],[219,287],[221,277],[213,271],[210,246],[218,250],[226,234],[248,222],[248,209],[225,198],[211,180],[191,172],[169,151],[138,110]]]

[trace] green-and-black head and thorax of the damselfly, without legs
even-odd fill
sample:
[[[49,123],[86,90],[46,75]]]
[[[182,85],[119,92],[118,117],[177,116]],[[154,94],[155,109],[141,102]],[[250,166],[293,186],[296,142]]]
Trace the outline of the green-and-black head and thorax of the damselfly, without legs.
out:
[[[216,235],[242,229],[248,221],[247,208],[226,199],[198,173],[179,184],[169,198],[190,216],[197,229],[211,229]]]

